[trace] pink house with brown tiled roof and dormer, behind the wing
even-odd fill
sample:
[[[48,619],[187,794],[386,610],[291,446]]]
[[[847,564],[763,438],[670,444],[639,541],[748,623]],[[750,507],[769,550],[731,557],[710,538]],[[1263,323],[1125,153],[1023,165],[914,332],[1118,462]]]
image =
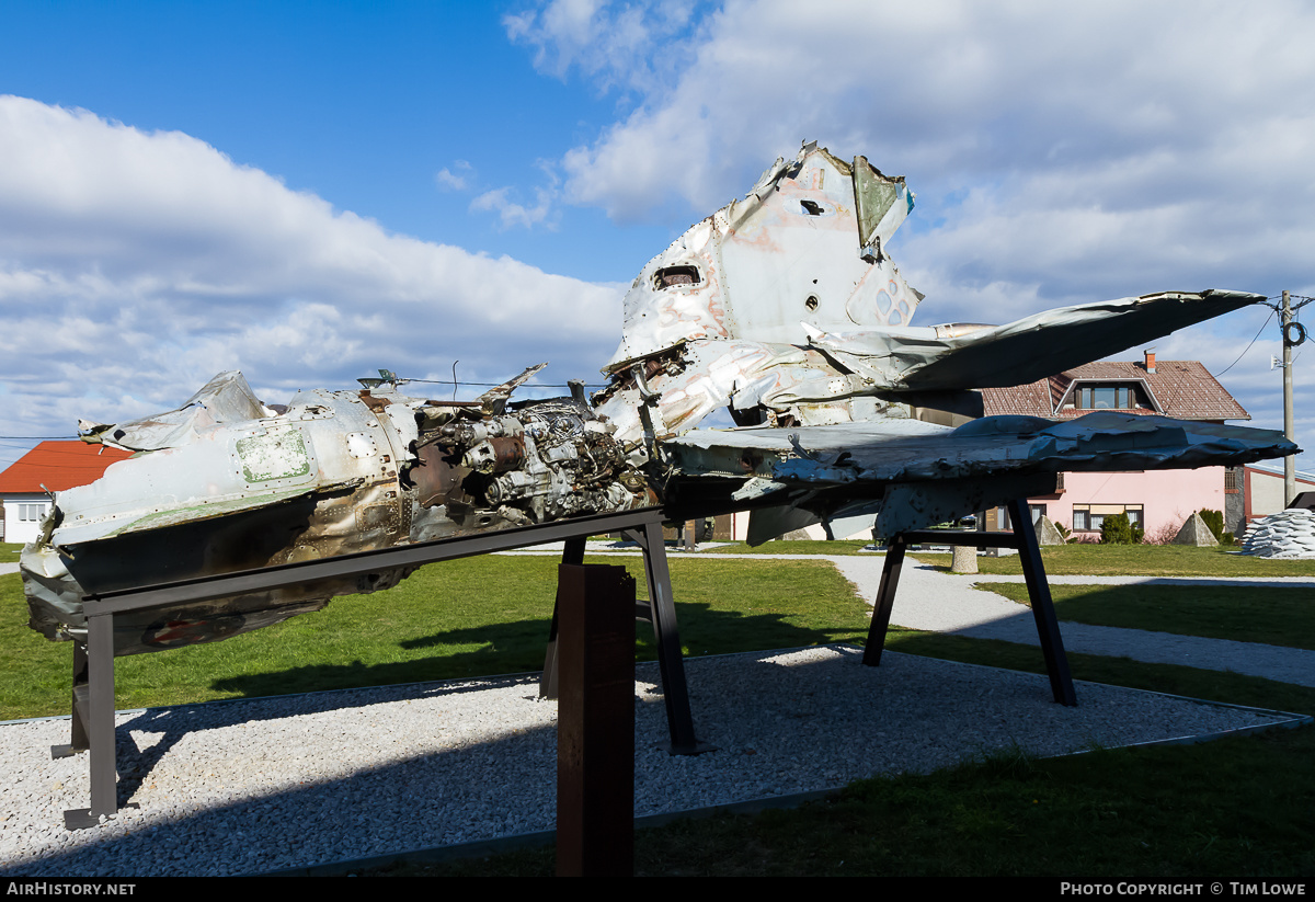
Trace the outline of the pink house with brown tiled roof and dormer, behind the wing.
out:
[[[1216,423],[1251,419],[1199,362],[1157,362],[1155,351],[1139,362],[1089,363],[1028,385],[982,389],[982,400],[986,415],[1068,419],[1093,410],[1120,410]],[[1236,501],[1230,505],[1227,496],[1241,492],[1236,473],[1241,469],[1061,473],[1055,494],[1030,498],[1028,504],[1034,518],[1044,514],[1080,538],[1099,538],[1105,518],[1122,513],[1148,538],[1164,539],[1195,510],[1237,506]],[[1007,529],[1003,509],[988,511],[986,529]]]

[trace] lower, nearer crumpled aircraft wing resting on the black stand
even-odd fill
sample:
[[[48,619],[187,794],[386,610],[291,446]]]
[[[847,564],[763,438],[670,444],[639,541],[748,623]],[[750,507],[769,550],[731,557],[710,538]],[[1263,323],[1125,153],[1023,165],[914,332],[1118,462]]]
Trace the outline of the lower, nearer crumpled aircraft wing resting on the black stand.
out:
[[[856,514],[877,514],[881,535],[923,529],[1048,494],[1060,472],[1236,465],[1299,448],[1272,430],[1097,412],[1069,421],[985,417],[959,429],[914,419],[704,429],[663,442],[663,451],[677,497],[693,489],[723,506],[756,508],[756,544]]]

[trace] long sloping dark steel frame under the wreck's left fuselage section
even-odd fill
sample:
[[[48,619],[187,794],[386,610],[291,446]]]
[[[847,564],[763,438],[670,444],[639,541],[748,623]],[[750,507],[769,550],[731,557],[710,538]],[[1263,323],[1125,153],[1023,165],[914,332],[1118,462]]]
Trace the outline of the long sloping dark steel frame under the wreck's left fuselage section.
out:
[[[53,746],[53,757],[89,751],[91,807],[64,811],[68,830],[93,827],[101,817],[118,813],[118,772],[114,752],[114,617],[168,605],[209,601],[250,592],[267,592],[322,579],[351,577],[380,569],[418,567],[439,560],[455,560],[493,551],[510,551],[550,542],[565,542],[563,563],[584,559],[590,535],[622,533],[634,539],[644,558],[650,602],[636,604],[636,615],[652,623],[661,668],[663,694],[671,731],[671,752],[690,755],[706,751],[694,738],[689,710],[689,690],[680,651],[676,607],[661,523],[661,508],[643,508],[618,514],[600,514],[540,523],[497,533],[464,535],[433,542],[363,551],[325,560],[296,561],[260,569],[203,576],[174,582],[89,593],[83,597],[87,614],[87,642],[74,646],[72,723],[67,746]],[[550,636],[551,675],[546,668],[540,692],[555,680],[556,610]]]

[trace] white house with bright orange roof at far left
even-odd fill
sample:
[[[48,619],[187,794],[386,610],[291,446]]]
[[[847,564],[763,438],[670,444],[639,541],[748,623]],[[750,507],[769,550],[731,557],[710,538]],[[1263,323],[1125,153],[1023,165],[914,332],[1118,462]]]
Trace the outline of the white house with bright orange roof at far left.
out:
[[[4,508],[4,542],[28,543],[37,538],[41,521],[50,513],[50,494],[101,477],[116,460],[129,458],[104,444],[42,442],[0,472],[0,504]]]

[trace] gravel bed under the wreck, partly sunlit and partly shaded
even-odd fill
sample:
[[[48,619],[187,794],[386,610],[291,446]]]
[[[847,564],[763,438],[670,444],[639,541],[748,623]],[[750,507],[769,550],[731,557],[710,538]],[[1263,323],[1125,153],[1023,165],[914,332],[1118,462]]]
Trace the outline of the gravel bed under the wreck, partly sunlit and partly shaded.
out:
[[[1198,736],[1279,717],[1044,677],[822,647],[686,663],[700,739],[672,757],[656,665],[638,668],[635,814],[926,772],[990,749],[1036,755]],[[0,726],[0,873],[243,874],[548,830],[554,702],[533,677],[421,684],[126,711],[121,798],[141,805],[68,832],[87,759],[50,759],[68,721]]]

